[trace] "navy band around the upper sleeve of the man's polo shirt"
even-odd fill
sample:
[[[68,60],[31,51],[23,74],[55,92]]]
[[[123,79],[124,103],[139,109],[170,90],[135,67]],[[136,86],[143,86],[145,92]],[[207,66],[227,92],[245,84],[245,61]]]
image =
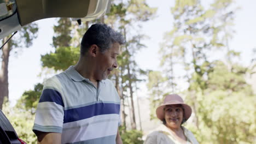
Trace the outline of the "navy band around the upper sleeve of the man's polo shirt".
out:
[[[64,107],[64,103],[61,94],[54,89],[44,89],[40,97],[39,103],[42,102],[54,102]]]

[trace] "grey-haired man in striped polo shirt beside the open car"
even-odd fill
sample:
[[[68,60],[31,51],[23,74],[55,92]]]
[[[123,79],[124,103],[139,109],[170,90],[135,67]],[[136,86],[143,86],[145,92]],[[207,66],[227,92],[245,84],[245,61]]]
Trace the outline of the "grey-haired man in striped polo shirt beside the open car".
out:
[[[44,83],[33,127],[38,143],[122,143],[120,98],[107,79],[121,44],[123,35],[107,25],[86,31],[78,63]]]

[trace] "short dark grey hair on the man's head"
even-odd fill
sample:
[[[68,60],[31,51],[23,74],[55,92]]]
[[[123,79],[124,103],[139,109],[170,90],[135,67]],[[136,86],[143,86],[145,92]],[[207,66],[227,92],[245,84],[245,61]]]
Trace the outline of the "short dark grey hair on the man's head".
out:
[[[100,52],[105,52],[114,43],[125,44],[123,35],[103,23],[92,25],[83,36],[80,55],[84,55],[91,45],[100,47]]]

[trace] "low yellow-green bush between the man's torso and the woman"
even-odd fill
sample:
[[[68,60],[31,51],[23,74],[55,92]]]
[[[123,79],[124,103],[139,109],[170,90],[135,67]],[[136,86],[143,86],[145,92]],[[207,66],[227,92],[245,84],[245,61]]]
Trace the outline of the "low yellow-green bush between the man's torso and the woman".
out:
[[[121,139],[123,144],[141,144],[142,140],[142,131],[139,130],[126,130],[124,131],[124,127],[120,127],[119,131],[121,131]]]

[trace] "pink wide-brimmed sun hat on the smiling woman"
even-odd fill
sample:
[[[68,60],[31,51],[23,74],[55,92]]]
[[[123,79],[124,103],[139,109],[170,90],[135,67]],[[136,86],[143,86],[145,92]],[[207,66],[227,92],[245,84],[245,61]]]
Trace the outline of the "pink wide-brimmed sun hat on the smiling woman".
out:
[[[170,95],[166,95],[164,102],[158,106],[158,108],[156,109],[156,116],[158,116],[158,118],[161,121],[164,121],[165,119],[165,112],[164,112],[164,108],[166,105],[176,105],[176,104],[181,104],[184,107],[184,118],[187,121],[189,119],[189,117],[191,116],[192,110],[191,107],[187,104],[184,104],[183,99],[178,95],[178,94],[170,94]]]

